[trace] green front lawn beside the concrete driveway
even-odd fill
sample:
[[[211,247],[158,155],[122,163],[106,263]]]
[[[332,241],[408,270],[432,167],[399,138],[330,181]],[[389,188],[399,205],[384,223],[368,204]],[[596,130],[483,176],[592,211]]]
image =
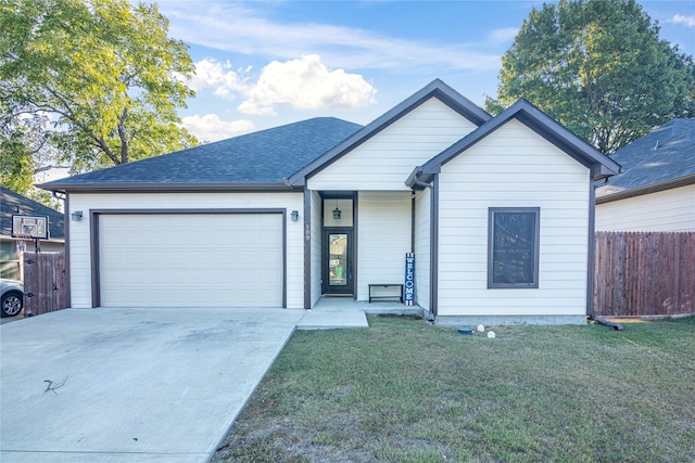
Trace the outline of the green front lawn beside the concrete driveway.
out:
[[[294,334],[214,461],[695,461],[695,318]]]

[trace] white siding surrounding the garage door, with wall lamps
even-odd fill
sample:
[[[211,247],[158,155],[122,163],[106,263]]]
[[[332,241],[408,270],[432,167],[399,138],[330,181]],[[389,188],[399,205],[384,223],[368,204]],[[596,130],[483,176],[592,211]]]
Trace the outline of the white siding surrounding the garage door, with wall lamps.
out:
[[[286,208],[287,217],[287,306],[304,307],[304,247],[302,221],[293,222],[292,210],[303,210],[302,193],[151,193],[151,194],[71,194],[71,211],[83,210],[79,222],[66,221],[70,227],[70,272],[72,307],[91,307],[91,257],[89,240],[90,209],[228,209]],[[191,236],[205,240],[204,228]]]

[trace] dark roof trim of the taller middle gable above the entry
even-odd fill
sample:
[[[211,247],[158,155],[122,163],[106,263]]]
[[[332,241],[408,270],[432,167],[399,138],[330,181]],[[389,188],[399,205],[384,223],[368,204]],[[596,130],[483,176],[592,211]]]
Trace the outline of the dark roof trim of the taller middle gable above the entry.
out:
[[[353,133],[350,138],[345,139],[342,143],[334,146],[332,150],[309,163],[307,166],[299,170],[292,177],[290,177],[290,184],[303,185],[306,177],[326,168],[330,164],[334,163],[350,151],[365,143],[367,140],[381,132],[383,129],[394,124],[404,115],[410,113],[426,101],[437,98],[442,103],[451,107],[463,117],[467,118],[476,126],[480,126],[490,120],[492,116],[485,111],[481,110],[475,103],[467,98],[463,97],[453,88],[448,87],[440,79],[434,79],[429,85],[407,98],[405,101],[375,119],[369,125],[365,126],[362,130]]]

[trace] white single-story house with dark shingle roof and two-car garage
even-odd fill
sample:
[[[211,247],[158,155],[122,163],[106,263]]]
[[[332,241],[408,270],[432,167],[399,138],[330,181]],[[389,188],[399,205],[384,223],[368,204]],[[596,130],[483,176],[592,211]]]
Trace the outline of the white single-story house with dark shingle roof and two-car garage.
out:
[[[595,181],[620,166],[527,101],[437,79],[371,124],[315,118],[41,187],[71,306],[315,307],[403,283],[440,324],[584,323]]]

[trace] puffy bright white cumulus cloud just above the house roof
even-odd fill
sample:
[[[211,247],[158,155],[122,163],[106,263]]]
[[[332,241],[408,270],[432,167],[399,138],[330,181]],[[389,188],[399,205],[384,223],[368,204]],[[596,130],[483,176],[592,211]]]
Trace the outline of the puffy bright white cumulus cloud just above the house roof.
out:
[[[245,114],[275,114],[274,106],[298,110],[355,108],[375,102],[375,88],[358,74],[330,70],[311,54],[266,65],[237,108]]]

